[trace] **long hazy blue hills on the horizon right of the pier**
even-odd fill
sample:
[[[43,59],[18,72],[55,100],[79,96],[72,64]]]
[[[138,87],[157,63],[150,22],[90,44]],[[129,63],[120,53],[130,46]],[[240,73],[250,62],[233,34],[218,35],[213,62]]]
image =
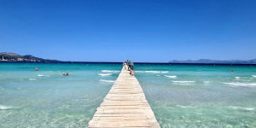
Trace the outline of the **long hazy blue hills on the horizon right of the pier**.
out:
[[[241,60],[231,60],[231,61],[218,61],[210,59],[200,59],[197,61],[187,60],[187,61],[169,61],[169,63],[202,63],[202,64],[256,64],[256,59],[241,61]]]

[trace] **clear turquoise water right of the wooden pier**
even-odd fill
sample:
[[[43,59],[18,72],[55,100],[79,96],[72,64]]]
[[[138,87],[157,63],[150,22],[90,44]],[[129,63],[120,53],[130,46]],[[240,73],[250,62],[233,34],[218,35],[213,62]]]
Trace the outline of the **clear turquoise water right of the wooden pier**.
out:
[[[137,67],[161,127],[256,127],[256,67]]]

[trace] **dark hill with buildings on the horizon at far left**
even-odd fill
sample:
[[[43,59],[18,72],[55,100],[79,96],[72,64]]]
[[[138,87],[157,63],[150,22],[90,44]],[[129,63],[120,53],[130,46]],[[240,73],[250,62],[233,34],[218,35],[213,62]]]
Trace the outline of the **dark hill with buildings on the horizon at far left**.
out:
[[[34,62],[59,62],[35,57],[33,55],[18,55],[10,52],[1,52],[0,61],[34,61]]]

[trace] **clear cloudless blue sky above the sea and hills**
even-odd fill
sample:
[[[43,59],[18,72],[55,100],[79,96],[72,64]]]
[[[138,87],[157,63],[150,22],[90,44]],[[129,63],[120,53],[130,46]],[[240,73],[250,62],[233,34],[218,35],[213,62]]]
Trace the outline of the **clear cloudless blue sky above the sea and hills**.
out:
[[[0,52],[61,61],[256,59],[255,0],[1,0]]]

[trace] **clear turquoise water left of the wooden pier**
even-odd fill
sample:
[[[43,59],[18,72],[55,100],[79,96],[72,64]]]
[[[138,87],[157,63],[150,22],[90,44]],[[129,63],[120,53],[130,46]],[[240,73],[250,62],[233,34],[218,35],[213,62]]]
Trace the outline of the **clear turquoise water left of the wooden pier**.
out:
[[[0,63],[0,127],[86,127],[120,69],[113,64]]]

